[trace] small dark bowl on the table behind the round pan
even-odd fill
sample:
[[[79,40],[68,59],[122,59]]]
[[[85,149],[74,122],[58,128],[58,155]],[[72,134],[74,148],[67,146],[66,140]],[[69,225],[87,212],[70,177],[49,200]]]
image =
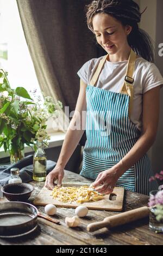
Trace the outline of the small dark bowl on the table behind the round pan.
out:
[[[27,201],[34,187],[27,183],[11,183],[1,188],[3,194],[9,201]]]

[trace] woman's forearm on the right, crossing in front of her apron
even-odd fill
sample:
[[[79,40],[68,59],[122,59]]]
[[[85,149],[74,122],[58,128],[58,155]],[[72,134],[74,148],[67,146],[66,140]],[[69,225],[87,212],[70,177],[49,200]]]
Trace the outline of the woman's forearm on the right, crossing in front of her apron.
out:
[[[155,140],[154,136],[148,134],[141,135],[140,139],[137,140],[135,145],[126,154],[125,157],[116,165],[118,176],[121,177],[124,172],[131,168],[136,162],[139,161],[151,148]]]

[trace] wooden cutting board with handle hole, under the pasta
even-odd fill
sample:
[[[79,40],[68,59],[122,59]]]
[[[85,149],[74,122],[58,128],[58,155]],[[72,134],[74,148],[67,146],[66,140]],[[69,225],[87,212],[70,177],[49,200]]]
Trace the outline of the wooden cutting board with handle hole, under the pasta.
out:
[[[84,184],[83,184],[84,185]],[[80,187],[82,184],[63,184],[65,187]],[[115,197],[116,196],[116,197]],[[40,193],[34,200],[35,205],[47,205],[53,204],[58,207],[65,207],[65,208],[76,208],[79,205],[84,205],[88,209],[92,210],[105,210],[105,211],[122,211],[123,209],[123,197],[124,197],[124,188],[122,187],[115,187],[114,191],[110,195],[105,195],[104,199],[95,201],[95,202],[88,202],[88,203],[63,203],[52,197],[52,190],[43,187]],[[113,200],[115,199],[116,200]]]

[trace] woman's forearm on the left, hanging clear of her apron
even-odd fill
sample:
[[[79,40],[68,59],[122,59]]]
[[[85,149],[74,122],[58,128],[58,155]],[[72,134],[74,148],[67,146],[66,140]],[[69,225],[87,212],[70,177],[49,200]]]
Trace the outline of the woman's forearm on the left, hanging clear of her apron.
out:
[[[79,144],[80,139],[82,138],[84,134],[85,129],[74,129],[74,123],[76,123],[78,120],[76,118],[72,118],[70,122],[70,126],[68,127],[64,143],[61,148],[60,156],[57,161],[57,165],[61,166],[62,168],[65,168],[65,165],[67,164],[68,160],[72,156],[74,150]]]

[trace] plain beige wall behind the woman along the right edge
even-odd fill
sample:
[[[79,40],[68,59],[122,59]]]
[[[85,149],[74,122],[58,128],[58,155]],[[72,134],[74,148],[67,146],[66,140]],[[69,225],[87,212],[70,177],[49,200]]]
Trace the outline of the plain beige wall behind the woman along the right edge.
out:
[[[159,68],[163,76],[163,57],[158,56],[158,45],[163,43],[163,0],[137,0],[140,5],[140,10],[147,10],[142,14],[140,27],[151,36],[155,43],[155,64]],[[155,143],[148,156],[152,162],[154,172],[159,172],[163,169],[163,88],[160,93],[160,121],[158,134]]]

